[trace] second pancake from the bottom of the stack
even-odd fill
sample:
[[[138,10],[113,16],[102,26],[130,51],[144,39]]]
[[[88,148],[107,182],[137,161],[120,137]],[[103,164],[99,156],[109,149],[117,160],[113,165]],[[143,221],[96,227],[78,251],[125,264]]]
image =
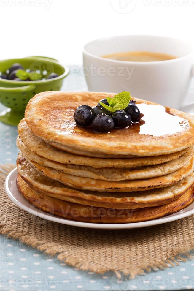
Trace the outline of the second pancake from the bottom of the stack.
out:
[[[96,192],[70,188],[39,173],[25,159],[17,163],[18,173],[35,191],[46,196],[72,203],[108,207],[115,209],[134,209],[158,206],[169,203],[184,194],[194,183],[194,173],[177,184],[140,192]]]

